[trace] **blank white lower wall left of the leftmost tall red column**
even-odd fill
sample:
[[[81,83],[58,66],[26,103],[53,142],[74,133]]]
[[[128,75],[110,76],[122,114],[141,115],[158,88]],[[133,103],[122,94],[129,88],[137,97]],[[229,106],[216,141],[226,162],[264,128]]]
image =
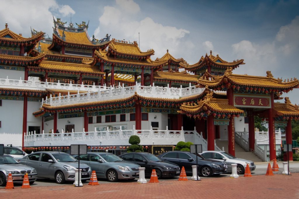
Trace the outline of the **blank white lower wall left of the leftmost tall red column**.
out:
[[[0,106],[1,144],[22,146],[23,105],[24,102],[21,100],[2,100],[2,106]]]

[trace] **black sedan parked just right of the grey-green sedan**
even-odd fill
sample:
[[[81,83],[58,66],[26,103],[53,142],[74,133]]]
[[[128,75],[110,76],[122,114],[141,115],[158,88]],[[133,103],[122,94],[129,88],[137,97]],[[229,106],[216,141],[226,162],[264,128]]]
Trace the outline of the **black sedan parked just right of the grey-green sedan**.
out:
[[[146,152],[131,152],[119,156],[121,159],[145,167],[145,176],[156,170],[158,179],[162,177],[175,177],[180,175],[180,167],[176,164],[161,161],[158,157]]]

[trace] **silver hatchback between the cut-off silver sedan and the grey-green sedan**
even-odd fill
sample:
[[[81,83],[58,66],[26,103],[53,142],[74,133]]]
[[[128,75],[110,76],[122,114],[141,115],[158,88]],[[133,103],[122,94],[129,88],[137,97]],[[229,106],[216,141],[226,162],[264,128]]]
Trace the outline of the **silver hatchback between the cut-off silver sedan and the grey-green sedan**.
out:
[[[75,169],[78,161],[70,154],[59,151],[39,151],[19,159],[19,162],[32,166],[37,171],[37,177],[55,179],[58,184],[65,181],[75,181]],[[80,163],[81,181],[90,179],[91,168]]]

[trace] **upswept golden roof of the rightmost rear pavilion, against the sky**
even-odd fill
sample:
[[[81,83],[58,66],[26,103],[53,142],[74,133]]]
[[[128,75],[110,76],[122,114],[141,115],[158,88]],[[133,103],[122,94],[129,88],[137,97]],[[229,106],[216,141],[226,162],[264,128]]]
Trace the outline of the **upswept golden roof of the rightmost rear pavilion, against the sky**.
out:
[[[197,68],[203,67],[203,66],[208,65],[208,64],[212,64],[212,65],[215,65],[215,66],[221,66],[221,67],[225,67],[225,68],[228,67],[228,66],[236,68],[241,64],[245,64],[243,61],[244,61],[244,59],[240,59],[240,60],[233,61],[233,62],[227,62],[227,61],[221,59],[219,57],[219,55],[213,56],[212,51],[211,51],[209,56],[208,56],[208,54],[206,54],[205,57],[202,56],[199,59],[199,61],[197,63],[193,64],[193,65],[188,65],[186,63],[181,62],[180,66],[182,68],[185,68],[186,70],[190,70],[190,71],[194,71]]]

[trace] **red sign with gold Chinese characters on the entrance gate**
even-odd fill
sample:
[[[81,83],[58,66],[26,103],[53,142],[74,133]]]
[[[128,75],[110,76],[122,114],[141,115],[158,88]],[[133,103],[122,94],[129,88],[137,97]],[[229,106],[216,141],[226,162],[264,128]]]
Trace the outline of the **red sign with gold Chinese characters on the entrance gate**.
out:
[[[234,94],[235,107],[271,108],[270,96]]]

